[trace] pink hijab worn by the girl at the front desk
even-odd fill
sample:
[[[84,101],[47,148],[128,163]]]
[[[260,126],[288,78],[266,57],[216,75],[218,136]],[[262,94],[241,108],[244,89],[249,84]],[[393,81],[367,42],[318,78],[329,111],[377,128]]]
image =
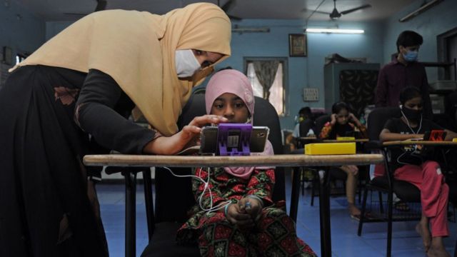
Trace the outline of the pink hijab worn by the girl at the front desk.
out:
[[[214,101],[221,96],[221,94],[225,93],[235,94],[244,101],[244,104],[246,104],[248,111],[251,114],[252,124],[254,115],[254,95],[251,82],[249,82],[246,75],[233,69],[219,71],[209,80],[205,93],[206,114],[211,114],[211,106],[213,106]],[[251,156],[273,154],[273,146],[271,146],[270,141],[267,140],[263,152],[251,153]],[[233,176],[247,179],[251,176],[254,168],[269,169],[274,167],[225,167],[224,170]]]

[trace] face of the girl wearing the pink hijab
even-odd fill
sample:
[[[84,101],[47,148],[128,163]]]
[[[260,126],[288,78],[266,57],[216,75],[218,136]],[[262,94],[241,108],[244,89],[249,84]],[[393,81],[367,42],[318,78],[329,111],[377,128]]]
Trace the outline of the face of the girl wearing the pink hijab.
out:
[[[229,123],[246,123],[250,116],[248,107],[236,94],[224,93],[214,100],[211,114],[224,116]]]

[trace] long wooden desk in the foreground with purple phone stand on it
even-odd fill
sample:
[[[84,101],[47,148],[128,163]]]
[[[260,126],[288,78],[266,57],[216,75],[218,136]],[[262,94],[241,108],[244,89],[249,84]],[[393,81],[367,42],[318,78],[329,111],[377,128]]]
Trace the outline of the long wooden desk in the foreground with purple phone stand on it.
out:
[[[88,166],[166,166],[166,167],[220,167],[220,166],[341,166],[381,163],[381,154],[352,154],[307,156],[284,154],[276,156],[136,156],[136,155],[88,155],[84,164]],[[330,193],[328,172],[320,187],[319,212],[321,216],[321,255],[331,256]],[[291,210],[289,215],[296,221],[298,197],[300,195],[300,173],[293,173]]]

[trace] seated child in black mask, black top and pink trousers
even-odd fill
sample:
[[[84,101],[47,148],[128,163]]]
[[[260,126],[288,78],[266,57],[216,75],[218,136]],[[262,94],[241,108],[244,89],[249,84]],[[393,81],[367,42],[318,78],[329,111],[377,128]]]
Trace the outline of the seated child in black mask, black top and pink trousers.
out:
[[[381,141],[421,139],[426,131],[432,130],[445,130],[445,140],[457,137],[457,133],[423,119],[421,92],[417,88],[403,89],[400,102],[402,116],[386,122],[379,135]],[[443,237],[449,236],[449,187],[444,181],[439,164],[424,158],[417,147],[411,146],[391,151],[391,159],[396,166],[393,176],[398,180],[408,181],[421,190],[422,218],[416,226],[416,231],[422,237],[427,255],[449,256],[443,244]]]

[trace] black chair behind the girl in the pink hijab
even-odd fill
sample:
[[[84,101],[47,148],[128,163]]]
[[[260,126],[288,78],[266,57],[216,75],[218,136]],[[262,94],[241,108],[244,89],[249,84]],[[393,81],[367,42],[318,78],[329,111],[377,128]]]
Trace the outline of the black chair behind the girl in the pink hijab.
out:
[[[189,124],[195,116],[206,114],[204,94],[195,94],[184,107],[179,119],[179,127]],[[281,128],[276,110],[271,104],[256,97],[254,107],[254,126],[268,126],[268,139],[273,145],[275,154],[283,151]],[[190,174],[191,168],[172,168],[174,173]],[[273,190],[273,201],[285,200],[285,175],[283,168],[276,168],[276,184]],[[179,246],[176,244],[176,231],[187,219],[187,211],[194,205],[190,178],[176,178],[169,171],[156,171],[156,201],[154,216],[148,217],[148,226],[154,228],[149,245],[141,256],[200,256],[195,246]],[[145,191],[146,193],[146,191]],[[149,198],[149,197],[147,197]],[[152,199],[152,197],[151,197]],[[151,205],[152,206],[152,205]]]

